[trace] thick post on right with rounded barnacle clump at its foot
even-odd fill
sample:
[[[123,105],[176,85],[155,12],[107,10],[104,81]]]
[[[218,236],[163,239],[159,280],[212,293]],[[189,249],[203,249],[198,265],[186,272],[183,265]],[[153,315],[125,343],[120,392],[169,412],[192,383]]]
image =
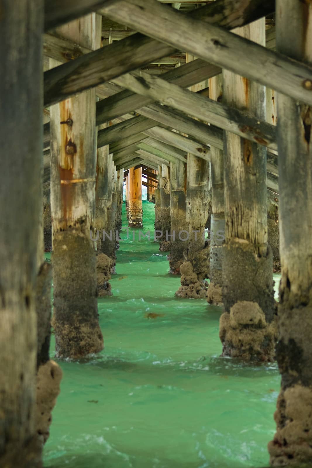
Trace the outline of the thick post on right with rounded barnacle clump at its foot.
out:
[[[265,45],[265,19],[235,32]],[[223,71],[228,106],[265,119],[265,88]],[[225,248],[220,339],[223,356],[271,361],[275,356],[272,252],[267,234],[266,149],[225,132]]]

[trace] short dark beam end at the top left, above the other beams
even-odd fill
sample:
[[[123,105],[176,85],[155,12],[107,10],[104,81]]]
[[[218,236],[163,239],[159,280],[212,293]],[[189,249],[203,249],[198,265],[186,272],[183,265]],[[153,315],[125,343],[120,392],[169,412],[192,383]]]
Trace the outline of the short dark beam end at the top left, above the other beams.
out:
[[[48,31],[100,8],[107,0],[45,0],[44,30]]]

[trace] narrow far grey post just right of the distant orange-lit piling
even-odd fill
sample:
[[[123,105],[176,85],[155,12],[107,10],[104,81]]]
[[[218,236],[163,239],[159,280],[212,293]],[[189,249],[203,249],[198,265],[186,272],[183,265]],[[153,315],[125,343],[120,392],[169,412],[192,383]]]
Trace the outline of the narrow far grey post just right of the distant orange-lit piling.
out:
[[[158,171],[160,173],[160,171]],[[170,167],[166,164],[161,165],[160,181],[160,251],[169,250],[170,233]],[[167,233],[167,234],[166,234]]]

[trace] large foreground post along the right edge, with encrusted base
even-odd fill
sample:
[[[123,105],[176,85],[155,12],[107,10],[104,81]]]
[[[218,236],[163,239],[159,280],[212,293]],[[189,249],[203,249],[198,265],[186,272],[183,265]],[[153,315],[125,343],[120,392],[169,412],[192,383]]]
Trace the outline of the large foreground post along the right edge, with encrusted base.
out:
[[[276,1],[276,49],[312,63],[312,3]],[[291,28],[289,27],[291,22]],[[312,78],[303,88],[311,90]],[[312,460],[312,108],[277,96],[282,278],[276,358],[282,384],[269,443],[272,466]]]

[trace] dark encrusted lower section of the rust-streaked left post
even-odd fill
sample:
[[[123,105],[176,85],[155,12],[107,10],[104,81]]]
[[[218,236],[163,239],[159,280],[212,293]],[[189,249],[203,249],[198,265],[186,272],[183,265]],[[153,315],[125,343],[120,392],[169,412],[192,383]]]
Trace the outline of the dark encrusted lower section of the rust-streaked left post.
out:
[[[81,358],[103,349],[95,254],[93,242],[79,229],[54,234],[52,326],[58,358]]]

